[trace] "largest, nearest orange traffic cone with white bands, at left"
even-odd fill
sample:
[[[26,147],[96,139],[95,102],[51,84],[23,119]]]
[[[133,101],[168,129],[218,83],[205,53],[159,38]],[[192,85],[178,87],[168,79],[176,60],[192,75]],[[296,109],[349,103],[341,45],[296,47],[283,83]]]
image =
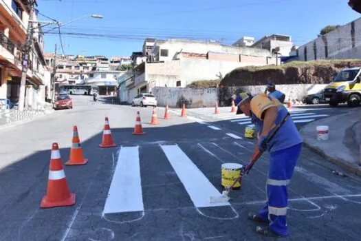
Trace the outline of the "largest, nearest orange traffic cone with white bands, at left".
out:
[[[52,157],[50,159],[49,178],[47,180],[46,196],[41,199],[40,207],[65,207],[74,205],[75,193],[70,193],[67,187],[67,178],[63,165],[58,143],[52,145]]]

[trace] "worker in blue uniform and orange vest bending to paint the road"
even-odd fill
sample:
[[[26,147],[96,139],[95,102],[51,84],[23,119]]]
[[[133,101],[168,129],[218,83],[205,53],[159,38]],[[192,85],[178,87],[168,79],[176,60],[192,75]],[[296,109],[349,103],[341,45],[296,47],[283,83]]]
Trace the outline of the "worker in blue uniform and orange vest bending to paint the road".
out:
[[[257,151],[270,152],[270,167],[266,183],[267,200],[258,213],[249,213],[248,218],[256,222],[267,222],[267,226],[256,227],[256,232],[267,236],[285,236],[287,233],[287,185],[292,178],[303,140],[292,118],[288,118],[270,143],[265,143],[274,127],[281,123],[288,113],[276,98],[267,94],[241,93],[240,107],[249,116],[258,130],[258,140],[254,146]]]

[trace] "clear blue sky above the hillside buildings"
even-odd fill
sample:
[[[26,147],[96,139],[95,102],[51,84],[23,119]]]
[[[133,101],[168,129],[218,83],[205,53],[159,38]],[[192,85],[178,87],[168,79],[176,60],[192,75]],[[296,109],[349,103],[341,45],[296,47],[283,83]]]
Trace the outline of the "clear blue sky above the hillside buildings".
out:
[[[348,0],[38,0],[38,10],[63,23],[65,54],[129,56],[142,51],[146,37],[214,39],[232,44],[241,36],[260,39],[287,34],[296,45],[317,37],[329,24],[346,24],[360,17]],[[39,15],[39,19],[48,21]],[[49,27],[44,30],[50,30]],[[89,35],[90,34],[90,35]],[[45,34],[45,51],[60,46],[58,30]],[[62,52],[62,50],[58,50]]]

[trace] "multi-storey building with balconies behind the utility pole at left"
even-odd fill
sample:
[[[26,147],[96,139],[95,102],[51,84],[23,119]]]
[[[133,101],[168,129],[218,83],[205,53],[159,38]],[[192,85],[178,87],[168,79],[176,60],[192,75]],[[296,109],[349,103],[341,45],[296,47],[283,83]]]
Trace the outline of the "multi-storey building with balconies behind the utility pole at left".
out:
[[[0,105],[11,101],[17,104],[21,83],[21,61],[27,36],[29,12],[27,1],[0,1]],[[36,20],[34,16],[34,20]],[[50,96],[50,73],[43,54],[41,28],[34,24],[33,45],[26,75],[25,106],[36,108]]]

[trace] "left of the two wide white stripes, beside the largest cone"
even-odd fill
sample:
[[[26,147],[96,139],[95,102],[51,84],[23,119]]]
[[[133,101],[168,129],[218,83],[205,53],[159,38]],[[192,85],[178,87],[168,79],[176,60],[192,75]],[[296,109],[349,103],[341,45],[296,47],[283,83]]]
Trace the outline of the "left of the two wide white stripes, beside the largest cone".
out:
[[[103,213],[144,211],[138,147],[121,147]]]

